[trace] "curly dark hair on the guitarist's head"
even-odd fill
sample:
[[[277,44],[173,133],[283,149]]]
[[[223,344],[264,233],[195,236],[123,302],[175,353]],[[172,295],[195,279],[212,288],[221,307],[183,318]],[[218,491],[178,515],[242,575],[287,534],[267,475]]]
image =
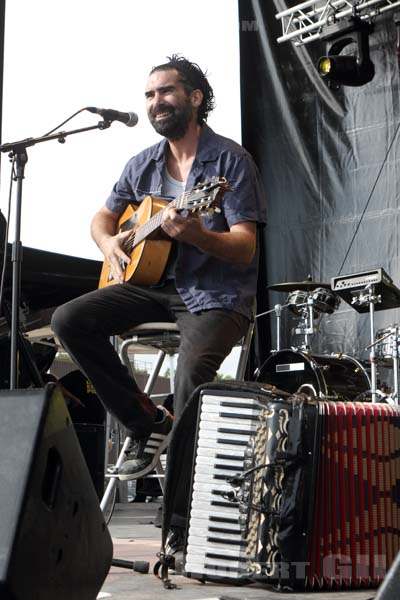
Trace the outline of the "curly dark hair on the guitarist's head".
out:
[[[204,73],[199,65],[190,62],[180,54],[167,56],[168,62],[153,67],[150,75],[156,71],[169,71],[175,69],[179,73],[179,80],[183,84],[187,95],[193,90],[200,90],[203,93],[203,100],[197,113],[197,121],[201,125],[207,121],[208,114],[215,108],[214,92],[207,80],[207,73]]]

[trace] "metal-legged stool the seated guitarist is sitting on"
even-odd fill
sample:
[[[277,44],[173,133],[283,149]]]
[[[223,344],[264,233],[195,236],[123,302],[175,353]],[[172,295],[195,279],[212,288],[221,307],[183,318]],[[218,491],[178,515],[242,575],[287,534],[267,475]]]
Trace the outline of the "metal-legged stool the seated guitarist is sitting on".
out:
[[[236,379],[239,381],[243,381],[245,376],[253,331],[254,320],[250,321],[246,334],[238,343],[238,346],[241,347],[241,351],[236,368]],[[129,349],[133,351],[136,350],[137,353],[149,353],[149,350],[155,350],[157,352],[156,361],[143,390],[146,394],[151,396],[165,358],[168,356],[172,361],[174,354],[176,354],[179,349],[180,334],[178,326],[176,323],[142,323],[124,334],[124,337],[127,339],[124,339],[120,345],[119,356],[121,361],[130,371],[132,377],[134,376],[134,370],[131,361],[129,360]],[[172,363],[170,368],[170,391],[173,392]],[[115,463],[116,468],[120,467],[124,462],[125,451],[129,447],[130,442],[131,438],[126,437]],[[161,464],[161,460],[158,461],[155,471],[155,477],[158,477],[161,490],[164,492],[164,468]],[[147,475],[147,477],[151,477],[151,475]],[[108,499],[111,496],[117,481],[118,476],[111,477],[100,503],[102,510],[107,505]]]

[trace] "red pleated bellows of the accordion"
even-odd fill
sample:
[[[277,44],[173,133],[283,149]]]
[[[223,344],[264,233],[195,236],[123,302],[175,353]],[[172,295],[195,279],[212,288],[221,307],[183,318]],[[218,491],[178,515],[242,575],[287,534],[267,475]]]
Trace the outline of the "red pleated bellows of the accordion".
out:
[[[399,407],[320,402],[307,581],[379,584],[399,551]]]

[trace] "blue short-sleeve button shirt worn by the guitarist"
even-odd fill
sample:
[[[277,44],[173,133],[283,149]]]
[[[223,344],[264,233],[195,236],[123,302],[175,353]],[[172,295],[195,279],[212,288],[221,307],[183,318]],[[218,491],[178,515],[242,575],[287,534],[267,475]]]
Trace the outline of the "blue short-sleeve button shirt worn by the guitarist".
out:
[[[161,197],[167,140],[143,150],[126,164],[106,206],[122,214],[128,204],[140,204],[149,195]],[[226,177],[234,188],[221,200],[221,212],[202,216],[212,231],[229,231],[244,221],[266,222],[265,197],[258,169],[239,144],[202,126],[196,157],[186,184],[191,190],[211,177]],[[223,308],[251,317],[257,289],[258,249],[249,265],[230,263],[178,242],[175,285],[192,312]]]

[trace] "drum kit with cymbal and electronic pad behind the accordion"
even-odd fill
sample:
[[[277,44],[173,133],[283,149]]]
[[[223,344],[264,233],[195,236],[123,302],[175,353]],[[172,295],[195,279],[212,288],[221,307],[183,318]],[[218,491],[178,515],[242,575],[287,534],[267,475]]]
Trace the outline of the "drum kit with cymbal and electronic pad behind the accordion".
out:
[[[290,394],[304,392],[322,399],[399,404],[400,326],[393,324],[375,332],[375,311],[400,307],[400,290],[383,269],[336,277],[330,284],[309,278],[270,285],[268,289],[285,292],[287,300],[256,317],[275,312],[277,332],[276,349],[258,369],[257,381]],[[319,331],[320,319],[334,313],[341,299],[357,312],[369,312],[371,341],[366,348],[367,364],[343,353],[312,352],[312,336]],[[282,350],[280,340],[282,310],[286,308],[298,321],[294,333],[302,336],[300,344],[290,350]],[[392,388],[385,385],[378,389],[377,366],[392,369]]]

